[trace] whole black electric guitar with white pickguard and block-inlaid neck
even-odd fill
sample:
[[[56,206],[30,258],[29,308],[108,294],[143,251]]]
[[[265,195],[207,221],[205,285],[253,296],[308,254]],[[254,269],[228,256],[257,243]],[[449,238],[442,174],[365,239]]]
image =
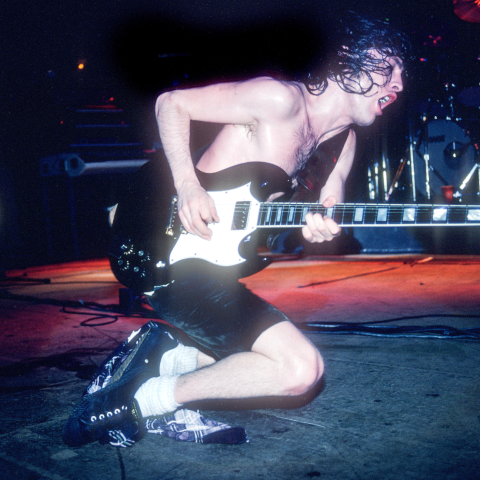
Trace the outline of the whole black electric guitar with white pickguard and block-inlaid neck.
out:
[[[116,215],[123,215],[123,225],[130,228],[116,228],[117,245],[111,250],[115,275],[133,290],[150,290],[175,279],[177,272],[195,268],[214,268],[218,275],[227,277],[251,275],[269,263],[257,254],[262,232],[302,227],[308,212],[327,215],[342,227],[480,225],[480,205],[344,203],[325,208],[318,203],[266,202],[272,193],[289,191],[290,179],[279,167],[255,162],[215,174],[197,170],[220,217],[219,223],[209,225],[213,235],[206,241],[182,229],[168,172],[144,173],[143,180],[137,182],[136,195],[147,199],[137,203],[136,212],[129,211],[134,192],[127,200],[130,205],[119,204]],[[166,177],[169,182],[162,183],[154,194],[147,193],[149,177],[163,178],[163,182]],[[145,224],[155,231],[153,235],[145,234]]]

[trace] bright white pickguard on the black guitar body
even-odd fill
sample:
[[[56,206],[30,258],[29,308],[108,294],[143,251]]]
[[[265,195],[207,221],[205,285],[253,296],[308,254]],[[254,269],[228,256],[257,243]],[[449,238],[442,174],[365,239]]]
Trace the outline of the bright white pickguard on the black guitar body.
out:
[[[260,210],[260,202],[250,193],[250,183],[233,190],[208,193],[215,201],[220,218],[219,223],[208,225],[213,232],[211,240],[203,240],[191,233],[180,235],[170,253],[170,265],[188,258],[199,258],[224,267],[245,262],[238,252],[238,247],[243,238],[257,228]],[[235,203],[245,201],[251,202],[246,228],[234,230],[232,225]]]

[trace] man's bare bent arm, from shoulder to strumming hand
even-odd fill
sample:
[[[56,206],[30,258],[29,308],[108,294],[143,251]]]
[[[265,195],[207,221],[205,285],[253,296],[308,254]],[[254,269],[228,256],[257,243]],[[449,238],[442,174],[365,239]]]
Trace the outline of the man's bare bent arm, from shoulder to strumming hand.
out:
[[[268,118],[282,119],[298,108],[291,86],[271,78],[176,90],[161,95],[156,117],[162,146],[178,194],[184,228],[204,239],[208,223],[218,222],[214,202],[200,186],[190,153],[190,121],[255,125]]]

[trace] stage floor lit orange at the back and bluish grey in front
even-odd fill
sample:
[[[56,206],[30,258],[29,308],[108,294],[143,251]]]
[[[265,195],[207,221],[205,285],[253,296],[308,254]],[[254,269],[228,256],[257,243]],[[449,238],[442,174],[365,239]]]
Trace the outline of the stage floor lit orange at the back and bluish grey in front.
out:
[[[307,332],[326,365],[311,402],[202,409],[246,428],[250,442],[237,446],[149,434],[129,449],[66,447],[63,423],[95,366],[146,320],[115,313],[121,286],[106,260],[7,277],[0,285],[4,478],[480,478],[479,341],[364,336],[343,325],[479,328],[480,257],[279,259],[243,280],[300,327],[342,323],[344,334]],[[91,302],[111,311],[86,308]]]

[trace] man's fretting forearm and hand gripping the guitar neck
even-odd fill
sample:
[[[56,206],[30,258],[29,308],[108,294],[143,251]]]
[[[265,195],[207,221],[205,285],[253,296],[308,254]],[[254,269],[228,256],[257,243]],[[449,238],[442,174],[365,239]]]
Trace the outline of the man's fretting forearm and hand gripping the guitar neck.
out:
[[[347,141],[342,153],[337,160],[335,168],[328,177],[327,182],[320,191],[319,202],[324,207],[333,207],[337,202],[343,202],[345,198],[345,182],[352,169],[355,157],[356,135],[350,129]],[[321,243],[329,241],[340,234],[340,227],[329,217],[322,217],[320,214],[307,213],[305,218],[307,224],[303,227],[302,233],[310,243]]]

